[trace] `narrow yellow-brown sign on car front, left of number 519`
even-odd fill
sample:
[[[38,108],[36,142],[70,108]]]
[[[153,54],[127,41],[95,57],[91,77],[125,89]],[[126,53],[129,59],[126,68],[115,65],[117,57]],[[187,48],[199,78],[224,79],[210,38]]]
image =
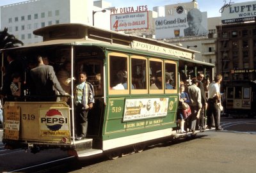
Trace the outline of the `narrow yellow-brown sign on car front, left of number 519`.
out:
[[[4,111],[4,139],[19,139],[20,107],[7,107]]]

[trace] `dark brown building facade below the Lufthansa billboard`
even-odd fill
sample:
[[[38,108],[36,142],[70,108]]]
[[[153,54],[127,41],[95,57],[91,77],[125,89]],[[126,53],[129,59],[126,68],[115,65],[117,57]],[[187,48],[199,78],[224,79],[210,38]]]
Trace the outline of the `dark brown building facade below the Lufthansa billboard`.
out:
[[[223,82],[256,80],[256,27],[255,22],[217,26],[218,73]]]

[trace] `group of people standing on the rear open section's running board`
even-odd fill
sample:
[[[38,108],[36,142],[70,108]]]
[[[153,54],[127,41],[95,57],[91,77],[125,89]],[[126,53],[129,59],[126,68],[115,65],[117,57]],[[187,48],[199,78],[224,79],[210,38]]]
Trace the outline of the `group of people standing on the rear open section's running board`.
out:
[[[188,129],[192,133],[194,133],[195,130],[204,132],[205,112],[207,117],[207,128],[211,129],[212,124],[214,124],[215,130],[223,130],[220,126],[220,82],[222,76],[216,75],[214,81],[212,81],[211,84],[206,82],[206,85],[202,82],[203,79],[204,73],[198,73],[197,77],[192,79],[192,84],[187,88],[184,84],[180,84],[179,109],[177,114],[180,133],[186,133],[188,132]],[[205,97],[206,89],[209,92],[209,98]],[[188,104],[189,107],[184,106],[186,104]]]

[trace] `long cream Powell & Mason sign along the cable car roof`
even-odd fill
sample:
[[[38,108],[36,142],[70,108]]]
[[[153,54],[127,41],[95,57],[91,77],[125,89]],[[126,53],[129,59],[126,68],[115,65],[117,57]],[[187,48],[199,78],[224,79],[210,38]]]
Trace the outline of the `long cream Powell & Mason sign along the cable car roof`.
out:
[[[140,41],[132,41],[132,48],[150,51],[150,52],[157,52],[160,54],[167,54],[170,56],[185,57],[188,59],[192,59],[192,57],[193,57],[193,54],[189,53],[189,52],[183,52],[180,50],[169,49],[169,48],[161,47],[161,46],[157,46],[157,45],[150,45],[148,43],[143,43]]]

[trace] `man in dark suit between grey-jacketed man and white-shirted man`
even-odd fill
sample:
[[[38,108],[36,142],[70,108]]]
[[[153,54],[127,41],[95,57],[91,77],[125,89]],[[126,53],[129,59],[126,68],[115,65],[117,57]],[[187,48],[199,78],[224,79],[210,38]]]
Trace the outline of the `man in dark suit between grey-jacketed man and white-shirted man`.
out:
[[[207,108],[207,100],[205,98],[205,91],[204,91],[204,84],[202,80],[204,79],[204,73],[198,73],[197,80],[198,80],[198,87],[201,91],[201,103],[202,103],[202,109],[200,111],[199,119],[197,119],[197,128],[200,130],[200,132],[204,132],[204,114],[205,109]]]

